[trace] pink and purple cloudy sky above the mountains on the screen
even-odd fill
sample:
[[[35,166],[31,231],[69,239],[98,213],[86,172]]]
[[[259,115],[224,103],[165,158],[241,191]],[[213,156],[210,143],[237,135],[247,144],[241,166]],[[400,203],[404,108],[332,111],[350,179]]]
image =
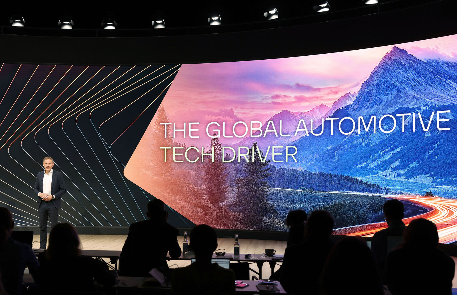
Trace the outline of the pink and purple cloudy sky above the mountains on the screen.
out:
[[[419,59],[456,60],[456,41],[457,35],[453,35],[396,46]],[[184,64],[163,103],[170,121],[181,125],[184,121],[203,124],[213,118],[233,121],[234,117],[247,123],[264,122],[285,109],[305,112],[322,103],[331,107],[347,92],[358,92],[361,83],[392,47],[295,58]],[[234,116],[227,115],[230,109]],[[218,116],[221,113],[224,115]]]

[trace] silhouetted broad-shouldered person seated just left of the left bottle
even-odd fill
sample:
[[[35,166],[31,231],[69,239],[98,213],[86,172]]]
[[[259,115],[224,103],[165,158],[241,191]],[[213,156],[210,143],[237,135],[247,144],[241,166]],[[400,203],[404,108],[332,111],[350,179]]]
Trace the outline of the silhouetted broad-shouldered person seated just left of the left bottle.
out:
[[[165,204],[159,199],[148,203],[148,220],[130,225],[122,247],[119,270],[124,276],[147,277],[154,268],[168,269],[167,252],[171,258],[181,256],[178,230],[167,223]],[[166,271],[165,271],[166,272]]]

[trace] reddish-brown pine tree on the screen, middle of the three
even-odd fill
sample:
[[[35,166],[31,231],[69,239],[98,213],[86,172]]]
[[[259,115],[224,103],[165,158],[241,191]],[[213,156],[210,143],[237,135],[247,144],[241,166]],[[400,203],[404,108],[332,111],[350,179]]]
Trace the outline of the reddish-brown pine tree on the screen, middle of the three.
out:
[[[216,134],[213,134],[215,136]],[[225,173],[226,166],[222,162],[222,145],[219,138],[211,138],[210,150],[214,148],[214,161],[211,156],[206,156],[202,165],[202,185],[205,185],[204,191],[208,196],[211,204],[218,206],[219,202],[225,200],[227,192],[227,176]]]

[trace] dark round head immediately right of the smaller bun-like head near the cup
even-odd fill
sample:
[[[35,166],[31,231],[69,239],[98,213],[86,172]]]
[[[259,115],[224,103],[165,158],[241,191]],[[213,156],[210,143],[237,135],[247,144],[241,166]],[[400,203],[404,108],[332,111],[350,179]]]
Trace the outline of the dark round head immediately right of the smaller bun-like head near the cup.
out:
[[[329,212],[324,210],[313,211],[306,221],[304,240],[328,238],[333,232],[333,225],[333,217]]]

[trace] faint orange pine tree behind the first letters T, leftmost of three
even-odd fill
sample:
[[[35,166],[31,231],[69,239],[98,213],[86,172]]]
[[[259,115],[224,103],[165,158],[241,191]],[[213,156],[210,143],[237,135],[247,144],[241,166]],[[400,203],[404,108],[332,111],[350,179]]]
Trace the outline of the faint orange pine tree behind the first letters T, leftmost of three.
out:
[[[170,175],[172,169],[171,164],[173,163],[171,149],[167,149],[167,161],[165,162],[165,152],[164,149],[160,147],[172,147],[173,138],[171,137],[170,125],[167,125],[165,138],[165,125],[160,125],[160,123],[170,123],[163,104],[160,104],[152,126],[152,128],[154,128],[152,136],[153,144],[151,147],[151,153],[154,159],[154,170],[152,172],[157,176],[168,176]]]

